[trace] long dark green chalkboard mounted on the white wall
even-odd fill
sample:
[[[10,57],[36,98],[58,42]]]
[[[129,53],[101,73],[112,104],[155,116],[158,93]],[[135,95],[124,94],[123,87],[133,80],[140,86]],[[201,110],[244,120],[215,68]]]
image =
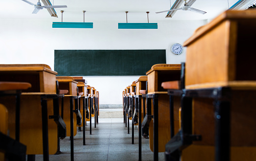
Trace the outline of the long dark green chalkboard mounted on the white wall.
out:
[[[166,63],[165,50],[55,50],[58,76],[143,76]]]

